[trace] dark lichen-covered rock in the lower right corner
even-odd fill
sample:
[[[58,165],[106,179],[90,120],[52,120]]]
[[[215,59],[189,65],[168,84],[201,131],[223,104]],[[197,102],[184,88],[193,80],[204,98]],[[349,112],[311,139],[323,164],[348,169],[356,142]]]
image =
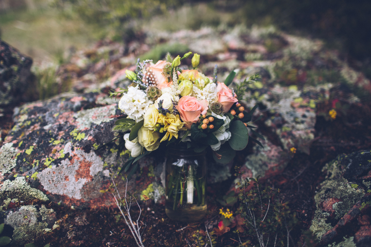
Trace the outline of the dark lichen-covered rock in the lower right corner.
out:
[[[368,217],[371,204],[371,151],[341,155],[324,167],[326,179],[315,195],[311,230],[321,244],[354,236],[357,246],[371,239]]]

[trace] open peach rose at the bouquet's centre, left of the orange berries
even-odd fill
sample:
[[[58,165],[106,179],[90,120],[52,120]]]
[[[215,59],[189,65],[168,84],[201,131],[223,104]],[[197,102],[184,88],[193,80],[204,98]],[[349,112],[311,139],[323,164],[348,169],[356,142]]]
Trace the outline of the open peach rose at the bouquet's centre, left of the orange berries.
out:
[[[190,129],[193,123],[197,123],[200,114],[206,114],[208,103],[206,100],[197,100],[195,97],[183,96],[180,98],[177,110],[179,111],[181,119],[184,121],[184,125]]]

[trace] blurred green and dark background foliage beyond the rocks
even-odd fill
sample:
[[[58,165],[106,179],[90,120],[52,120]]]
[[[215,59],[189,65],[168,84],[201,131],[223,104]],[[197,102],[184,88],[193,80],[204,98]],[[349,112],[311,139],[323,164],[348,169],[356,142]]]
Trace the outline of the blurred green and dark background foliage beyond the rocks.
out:
[[[0,0],[0,37],[36,62],[61,63],[71,47],[105,38],[128,42],[143,26],[175,31],[273,24],[324,39],[361,61],[358,69],[370,78],[370,13],[371,1],[361,0]]]

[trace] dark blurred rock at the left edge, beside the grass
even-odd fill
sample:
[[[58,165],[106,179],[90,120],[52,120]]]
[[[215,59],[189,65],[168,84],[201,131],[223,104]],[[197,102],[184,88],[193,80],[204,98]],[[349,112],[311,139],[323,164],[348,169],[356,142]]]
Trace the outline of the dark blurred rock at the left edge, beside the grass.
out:
[[[32,86],[32,59],[0,40],[0,106],[27,101],[27,88]]]

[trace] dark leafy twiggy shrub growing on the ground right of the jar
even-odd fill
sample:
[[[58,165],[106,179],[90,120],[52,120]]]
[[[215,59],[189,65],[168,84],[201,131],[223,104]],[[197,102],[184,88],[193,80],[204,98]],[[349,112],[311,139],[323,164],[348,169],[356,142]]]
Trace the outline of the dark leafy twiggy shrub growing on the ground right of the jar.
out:
[[[245,220],[247,234],[254,237],[260,247],[289,246],[290,231],[298,222],[296,213],[290,211],[288,202],[282,202],[279,189],[270,186],[262,188],[259,176],[243,181],[244,171],[237,166],[234,168],[237,172],[234,175],[240,178],[236,184],[240,191],[239,212]]]

